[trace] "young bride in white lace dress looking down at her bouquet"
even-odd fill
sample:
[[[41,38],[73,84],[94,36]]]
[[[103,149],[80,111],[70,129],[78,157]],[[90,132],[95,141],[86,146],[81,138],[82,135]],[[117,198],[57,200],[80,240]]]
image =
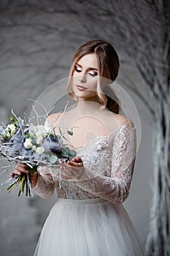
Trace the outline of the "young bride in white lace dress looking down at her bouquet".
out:
[[[63,118],[67,127],[74,127],[70,143],[77,157],[61,163],[61,177],[45,167],[31,177],[37,195],[49,197],[55,188],[58,193],[35,256],[144,255],[122,205],[134,171],[136,128],[119,114],[118,103],[103,93],[118,70],[117,53],[108,42],[86,42],[74,55],[68,92],[77,105]],[[62,114],[56,116],[49,116],[51,126],[60,123]],[[14,173],[22,172],[28,171],[19,163]]]

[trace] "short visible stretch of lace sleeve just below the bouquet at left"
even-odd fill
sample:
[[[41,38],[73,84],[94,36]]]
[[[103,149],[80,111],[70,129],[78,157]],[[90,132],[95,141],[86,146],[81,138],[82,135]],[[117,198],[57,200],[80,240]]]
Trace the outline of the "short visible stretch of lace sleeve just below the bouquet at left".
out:
[[[39,197],[47,198],[53,195],[55,182],[47,167],[38,167],[38,180],[34,187],[34,193]]]

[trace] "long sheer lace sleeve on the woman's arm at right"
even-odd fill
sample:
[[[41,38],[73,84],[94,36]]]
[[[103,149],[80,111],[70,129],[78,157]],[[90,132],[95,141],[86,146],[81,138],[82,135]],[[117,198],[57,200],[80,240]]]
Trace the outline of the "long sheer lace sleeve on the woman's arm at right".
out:
[[[109,151],[111,159],[106,162],[110,166],[109,175],[96,173],[94,176],[93,170],[85,167],[83,180],[75,184],[93,195],[120,204],[128,197],[136,159],[136,129],[132,121],[119,129]]]

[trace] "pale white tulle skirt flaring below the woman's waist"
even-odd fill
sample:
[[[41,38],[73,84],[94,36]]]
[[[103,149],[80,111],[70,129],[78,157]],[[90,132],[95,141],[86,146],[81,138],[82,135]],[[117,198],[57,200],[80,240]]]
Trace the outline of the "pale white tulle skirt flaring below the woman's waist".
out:
[[[125,208],[103,199],[58,199],[34,256],[111,255],[145,255]]]

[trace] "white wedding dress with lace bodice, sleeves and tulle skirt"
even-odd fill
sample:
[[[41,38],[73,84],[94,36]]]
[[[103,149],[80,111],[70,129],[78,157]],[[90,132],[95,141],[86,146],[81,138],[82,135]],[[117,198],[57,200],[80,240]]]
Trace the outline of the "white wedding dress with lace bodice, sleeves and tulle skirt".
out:
[[[109,136],[77,148],[77,155],[84,164],[79,180],[60,180],[56,168],[39,168],[36,194],[49,197],[56,188],[58,200],[42,228],[34,256],[145,255],[122,205],[134,170],[135,127],[126,122]]]

